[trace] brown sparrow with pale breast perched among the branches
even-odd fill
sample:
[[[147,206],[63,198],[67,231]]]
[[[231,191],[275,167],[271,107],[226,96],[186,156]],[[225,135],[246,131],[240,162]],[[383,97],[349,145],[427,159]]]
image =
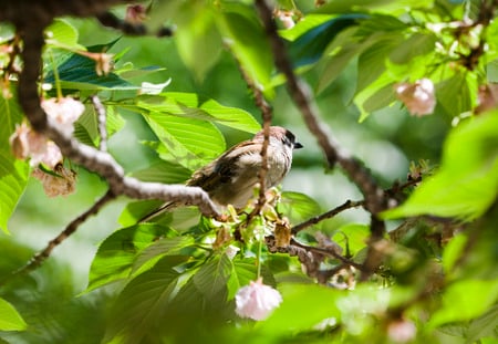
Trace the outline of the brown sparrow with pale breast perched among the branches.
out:
[[[187,186],[200,187],[217,206],[231,205],[236,209],[243,209],[259,183],[263,140],[264,134],[263,131],[260,131],[252,139],[235,145],[208,165],[196,170],[187,180]],[[282,181],[292,164],[292,150],[302,147],[290,131],[280,126],[270,127],[266,189]],[[176,206],[179,204],[166,202],[138,222],[148,221]]]

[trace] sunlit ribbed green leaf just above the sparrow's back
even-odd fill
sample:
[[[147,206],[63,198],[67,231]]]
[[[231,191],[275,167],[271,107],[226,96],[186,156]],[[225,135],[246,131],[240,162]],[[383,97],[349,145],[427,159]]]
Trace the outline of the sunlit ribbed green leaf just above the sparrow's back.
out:
[[[160,157],[196,170],[225,150],[225,138],[206,121],[153,112],[145,116],[152,131],[167,148]]]

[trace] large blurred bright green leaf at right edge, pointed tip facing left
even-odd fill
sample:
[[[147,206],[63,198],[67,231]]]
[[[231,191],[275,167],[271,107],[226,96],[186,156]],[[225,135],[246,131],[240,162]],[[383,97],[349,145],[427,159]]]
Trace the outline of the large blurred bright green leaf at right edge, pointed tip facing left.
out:
[[[496,201],[498,190],[498,111],[454,128],[444,145],[440,169],[424,180],[385,218],[434,215],[471,220]]]

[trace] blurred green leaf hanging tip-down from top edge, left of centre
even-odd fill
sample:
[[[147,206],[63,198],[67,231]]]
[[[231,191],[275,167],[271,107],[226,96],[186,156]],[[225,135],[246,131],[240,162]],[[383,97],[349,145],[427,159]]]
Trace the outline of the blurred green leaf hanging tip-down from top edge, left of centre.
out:
[[[178,53],[197,80],[203,81],[219,60],[222,46],[211,7],[203,1],[187,1],[175,19]]]

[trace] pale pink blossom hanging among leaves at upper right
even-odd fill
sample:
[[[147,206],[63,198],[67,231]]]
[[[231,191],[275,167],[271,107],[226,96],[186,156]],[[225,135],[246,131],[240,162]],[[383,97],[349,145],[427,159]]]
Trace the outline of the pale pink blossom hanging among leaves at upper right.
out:
[[[395,86],[396,96],[406,105],[412,115],[429,115],[436,107],[434,84],[428,79],[415,83],[400,83]]]

